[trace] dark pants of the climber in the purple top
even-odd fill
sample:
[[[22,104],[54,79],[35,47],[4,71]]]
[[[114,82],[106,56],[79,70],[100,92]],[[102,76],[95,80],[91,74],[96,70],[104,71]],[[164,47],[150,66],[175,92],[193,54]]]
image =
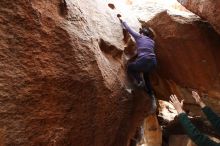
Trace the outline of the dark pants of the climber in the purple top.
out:
[[[146,85],[147,93],[151,96],[153,94],[153,88],[150,83],[149,73],[156,67],[156,58],[149,59],[146,56],[138,57],[134,62],[128,64],[128,75],[135,79],[137,83],[143,81],[141,73],[143,73],[144,81]]]

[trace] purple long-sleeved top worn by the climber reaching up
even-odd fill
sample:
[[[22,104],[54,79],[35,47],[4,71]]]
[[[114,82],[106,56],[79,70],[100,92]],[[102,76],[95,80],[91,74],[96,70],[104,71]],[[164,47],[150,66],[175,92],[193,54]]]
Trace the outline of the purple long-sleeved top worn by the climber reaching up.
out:
[[[122,24],[136,41],[138,57],[146,56],[147,58],[150,58],[150,59],[155,58],[154,40],[152,40],[151,38],[147,36],[141,35],[138,32],[135,32],[128,26],[126,22],[122,21]]]

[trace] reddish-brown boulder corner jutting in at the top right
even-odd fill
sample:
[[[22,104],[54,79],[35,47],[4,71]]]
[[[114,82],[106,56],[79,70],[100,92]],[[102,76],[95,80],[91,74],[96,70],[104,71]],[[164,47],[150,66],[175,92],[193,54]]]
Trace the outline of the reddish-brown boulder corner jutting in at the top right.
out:
[[[208,20],[220,33],[220,1],[218,0],[177,0],[188,10]]]

